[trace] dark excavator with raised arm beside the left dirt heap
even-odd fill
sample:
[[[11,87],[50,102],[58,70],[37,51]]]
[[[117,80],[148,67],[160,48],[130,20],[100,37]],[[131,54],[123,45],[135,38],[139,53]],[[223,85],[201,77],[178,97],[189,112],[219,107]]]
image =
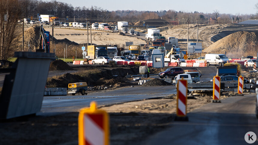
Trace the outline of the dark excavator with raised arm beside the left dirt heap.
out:
[[[36,49],[36,52],[49,53],[49,32],[44,31],[42,24],[41,24],[39,33],[40,33],[39,49]]]

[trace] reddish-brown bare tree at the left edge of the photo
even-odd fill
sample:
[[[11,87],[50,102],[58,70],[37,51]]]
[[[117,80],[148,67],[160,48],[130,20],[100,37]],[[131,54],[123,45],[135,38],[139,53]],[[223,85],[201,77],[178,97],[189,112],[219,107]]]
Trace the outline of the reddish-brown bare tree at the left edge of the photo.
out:
[[[0,1],[0,56],[6,60],[17,50],[16,24],[21,13],[20,0]]]

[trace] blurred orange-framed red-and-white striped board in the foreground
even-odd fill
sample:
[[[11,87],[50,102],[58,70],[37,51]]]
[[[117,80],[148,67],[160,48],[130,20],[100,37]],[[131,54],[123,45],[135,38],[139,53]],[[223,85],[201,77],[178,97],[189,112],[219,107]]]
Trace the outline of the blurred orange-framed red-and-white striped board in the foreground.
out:
[[[79,112],[78,139],[79,145],[109,145],[109,117],[106,111],[96,109],[95,102]]]

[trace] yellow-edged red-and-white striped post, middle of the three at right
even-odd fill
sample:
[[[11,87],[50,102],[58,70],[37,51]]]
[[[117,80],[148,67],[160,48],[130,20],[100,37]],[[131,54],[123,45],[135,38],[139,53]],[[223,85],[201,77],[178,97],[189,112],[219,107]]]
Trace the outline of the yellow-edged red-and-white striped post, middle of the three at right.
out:
[[[220,103],[220,77],[213,77],[213,103]]]

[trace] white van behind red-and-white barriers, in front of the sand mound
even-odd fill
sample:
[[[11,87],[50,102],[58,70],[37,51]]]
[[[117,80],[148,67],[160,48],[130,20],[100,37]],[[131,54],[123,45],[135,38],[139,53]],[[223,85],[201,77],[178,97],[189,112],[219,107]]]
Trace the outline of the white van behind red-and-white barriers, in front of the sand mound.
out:
[[[210,64],[223,66],[229,59],[223,54],[206,54],[205,61],[207,61],[208,66]]]

